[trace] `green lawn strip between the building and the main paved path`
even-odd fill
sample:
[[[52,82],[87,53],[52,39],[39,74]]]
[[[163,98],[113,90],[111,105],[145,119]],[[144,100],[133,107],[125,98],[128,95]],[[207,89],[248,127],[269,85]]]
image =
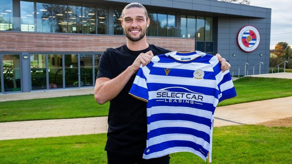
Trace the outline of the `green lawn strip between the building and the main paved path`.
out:
[[[237,97],[218,106],[292,96],[292,80],[245,77],[234,81]],[[0,102],[0,122],[107,116],[109,102],[98,105],[93,95]],[[6,115],[3,115],[6,113]]]

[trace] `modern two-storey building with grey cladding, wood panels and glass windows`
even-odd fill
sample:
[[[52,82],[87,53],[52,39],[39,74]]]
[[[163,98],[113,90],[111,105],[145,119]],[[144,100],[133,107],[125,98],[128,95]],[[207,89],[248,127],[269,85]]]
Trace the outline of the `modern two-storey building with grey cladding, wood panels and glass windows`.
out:
[[[128,0],[0,0],[0,94],[94,87],[101,53],[126,43]],[[216,0],[137,0],[148,43],[220,53],[232,68],[268,73],[271,9]],[[244,65],[246,66],[246,65]],[[244,67],[243,66],[243,67]],[[242,67],[242,66],[241,66]],[[234,74],[246,75],[244,68]]]

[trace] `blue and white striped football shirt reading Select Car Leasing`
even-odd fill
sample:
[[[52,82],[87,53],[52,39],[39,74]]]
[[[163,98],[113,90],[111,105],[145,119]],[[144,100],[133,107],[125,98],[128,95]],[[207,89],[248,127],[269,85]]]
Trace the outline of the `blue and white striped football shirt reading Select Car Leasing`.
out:
[[[129,92],[147,102],[147,142],[143,158],[188,151],[211,162],[214,111],[236,96],[229,71],[200,51],[154,56],[140,67]]]

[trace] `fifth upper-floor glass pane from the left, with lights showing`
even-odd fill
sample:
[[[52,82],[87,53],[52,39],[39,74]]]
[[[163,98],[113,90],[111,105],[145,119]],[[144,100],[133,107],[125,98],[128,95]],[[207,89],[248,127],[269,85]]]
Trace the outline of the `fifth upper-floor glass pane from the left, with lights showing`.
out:
[[[82,14],[80,6],[68,6],[69,33],[82,33]]]

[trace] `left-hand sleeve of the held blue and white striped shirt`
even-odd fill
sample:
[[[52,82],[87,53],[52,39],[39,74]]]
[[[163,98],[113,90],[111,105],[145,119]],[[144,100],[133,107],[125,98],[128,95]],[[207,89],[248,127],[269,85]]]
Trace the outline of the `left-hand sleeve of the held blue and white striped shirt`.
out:
[[[135,98],[148,102],[149,94],[147,88],[147,78],[142,69],[142,64],[137,72],[129,94]]]

